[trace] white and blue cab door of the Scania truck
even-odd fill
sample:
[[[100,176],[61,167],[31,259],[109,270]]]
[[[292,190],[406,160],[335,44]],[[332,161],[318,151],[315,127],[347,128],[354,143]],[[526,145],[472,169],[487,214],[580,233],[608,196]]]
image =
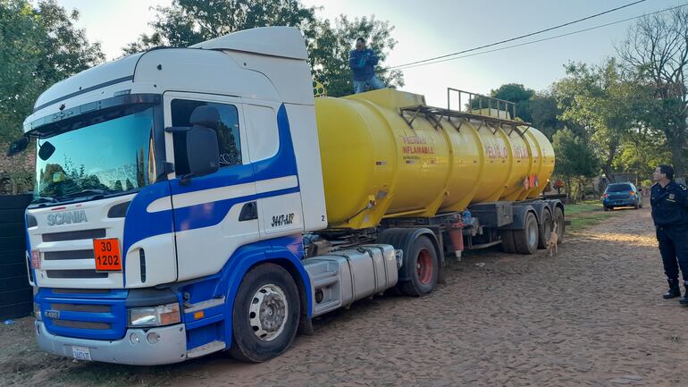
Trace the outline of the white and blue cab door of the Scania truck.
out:
[[[193,110],[212,105],[220,114],[217,139],[220,169],[181,184],[189,172],[186,133],[165,133],[178,281],[217,273],[234,251],[259,240],[256,181],[248,159],[241,99],[196,93],[164,93],[165,127],[189,126]],[[197,149],[203,152],[204,149]]]

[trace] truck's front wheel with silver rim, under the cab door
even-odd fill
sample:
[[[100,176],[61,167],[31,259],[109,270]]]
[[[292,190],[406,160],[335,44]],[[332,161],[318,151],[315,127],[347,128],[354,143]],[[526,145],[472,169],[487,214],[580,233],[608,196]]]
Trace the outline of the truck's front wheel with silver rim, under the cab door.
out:
[[[286,306],[283,303],[285,300]],[[256,307],[261,309],[258,315],[251,310]],[[264,264],[251,269],[241,281],[234,299],[231,356],[244,362],[261,363],[281,355],[294,341],[300,308],[297,285],[280,265]],[[273,319],[267,323],[278,326],[262,325],[260,317],[263,310],[266,319]],[[284,315],[282,320],[279,315]],[[261,339],[256,332],[266,333]]]

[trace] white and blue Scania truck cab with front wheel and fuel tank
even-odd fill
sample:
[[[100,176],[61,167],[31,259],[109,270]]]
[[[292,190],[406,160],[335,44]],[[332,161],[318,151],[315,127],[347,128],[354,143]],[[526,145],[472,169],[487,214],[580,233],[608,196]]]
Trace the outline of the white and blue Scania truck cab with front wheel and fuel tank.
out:
[[[38,144],[26,223],[39,347],[264,361],[315,315],[394,286],[389,245],[305,259],[302,235],[327,227],[311,83],[300,31],[278,27],[48,88],[11,149]]]

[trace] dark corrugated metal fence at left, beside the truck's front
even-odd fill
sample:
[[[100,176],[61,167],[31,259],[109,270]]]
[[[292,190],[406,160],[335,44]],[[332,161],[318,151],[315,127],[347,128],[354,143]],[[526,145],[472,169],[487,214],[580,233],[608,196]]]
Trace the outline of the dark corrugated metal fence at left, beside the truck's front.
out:
[[[32,195],[0,196],[0,320],[30,315],[24,211]]]

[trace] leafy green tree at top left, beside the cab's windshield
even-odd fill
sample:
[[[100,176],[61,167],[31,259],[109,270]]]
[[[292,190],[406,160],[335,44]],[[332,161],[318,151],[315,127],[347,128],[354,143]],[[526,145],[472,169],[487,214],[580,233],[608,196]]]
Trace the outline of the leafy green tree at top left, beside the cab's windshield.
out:
[[[100,46],[74,27],[78,18],[55,0],[0,0],[0,142],[21,136],[46,88],[105,60]]]

